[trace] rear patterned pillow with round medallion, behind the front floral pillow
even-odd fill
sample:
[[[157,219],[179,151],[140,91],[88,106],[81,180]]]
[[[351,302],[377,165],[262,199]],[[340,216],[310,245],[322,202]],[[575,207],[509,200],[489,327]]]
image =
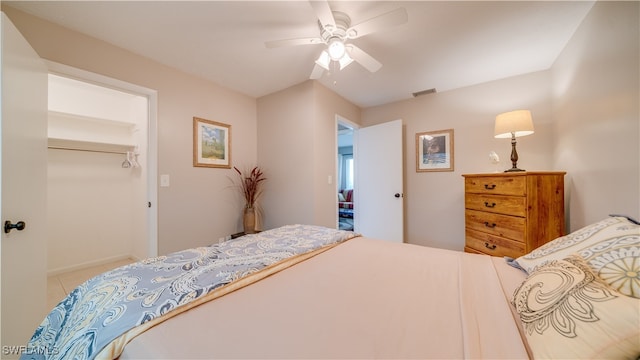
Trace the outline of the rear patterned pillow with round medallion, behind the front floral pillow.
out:
[[[531,273],[536,266],[571,254],[583,257],[617,291],[640,298],[640,225],[622,216],[609,217],[519,257],[514,265]]]

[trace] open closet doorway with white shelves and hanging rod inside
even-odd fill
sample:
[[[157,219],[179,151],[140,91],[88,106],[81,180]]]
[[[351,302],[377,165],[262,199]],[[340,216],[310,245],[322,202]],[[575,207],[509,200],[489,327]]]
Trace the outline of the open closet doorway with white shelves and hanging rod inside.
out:
[[[48,274],[156,256],[155,91],[49,65]]]

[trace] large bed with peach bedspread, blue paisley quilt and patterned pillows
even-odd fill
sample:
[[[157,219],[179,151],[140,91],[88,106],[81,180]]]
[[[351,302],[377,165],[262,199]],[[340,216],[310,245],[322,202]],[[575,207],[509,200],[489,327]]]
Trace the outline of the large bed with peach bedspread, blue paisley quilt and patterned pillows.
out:
[[[608,245],[618,260],[640,267],[640,227],[623,217],[509,261],[285,226],[89,280],[43,321],[22,357],[636,359],[640,287],[607,283],[596,269],[606,260],[590,262],[606,252],[596,241],[603,229],[623,239]],[[92,281],[111,290],[82,301]],[[99,340],[135,308],[110,303],[113,294],[148,306],[134,315],[142,324]],[[163,298],[170,294],[180,295]]]

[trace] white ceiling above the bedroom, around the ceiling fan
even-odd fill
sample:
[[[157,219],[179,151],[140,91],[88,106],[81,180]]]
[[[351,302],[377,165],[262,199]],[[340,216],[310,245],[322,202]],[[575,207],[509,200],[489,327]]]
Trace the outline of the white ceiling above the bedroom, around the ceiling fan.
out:
[[[361,107],[549,69],[593,1],[330,1],[358,24],[404,7],[404,25],[353,40],[383,64],[325,72]],[[309,78],[323,45],[267,49],[319,35],[307,1],[4,1],[238,92],[260,97]]]

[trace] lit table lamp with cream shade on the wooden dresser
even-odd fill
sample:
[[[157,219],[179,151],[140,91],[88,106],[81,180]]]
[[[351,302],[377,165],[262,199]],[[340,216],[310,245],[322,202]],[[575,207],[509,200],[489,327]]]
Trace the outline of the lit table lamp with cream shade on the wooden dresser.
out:
[[[506,139],[511,137],[511,164],[512,168],[505,170],[524,171],[518,169],[518,152],[516,151],[516,137],[527,136],[533,134],[533,120],[531,119],[531,111],[515,110],[502,113],[496,116],[495,137],[498,139]]]

